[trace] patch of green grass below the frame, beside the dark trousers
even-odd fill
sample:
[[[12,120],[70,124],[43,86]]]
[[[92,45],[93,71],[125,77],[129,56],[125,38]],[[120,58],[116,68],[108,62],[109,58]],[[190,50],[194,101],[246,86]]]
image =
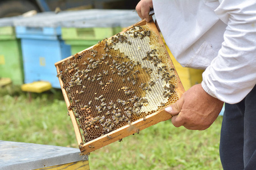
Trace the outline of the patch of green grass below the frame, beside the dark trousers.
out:
[[[160,122],[90,155],[92,169],[222,169],[221,117],[205,131]]]

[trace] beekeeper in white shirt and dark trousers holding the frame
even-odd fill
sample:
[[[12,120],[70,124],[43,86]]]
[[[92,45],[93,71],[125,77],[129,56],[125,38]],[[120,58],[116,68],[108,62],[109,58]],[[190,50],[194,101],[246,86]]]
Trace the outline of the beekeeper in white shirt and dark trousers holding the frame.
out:
[[[166,111],[174,126],[204,130],[225,102],[220,158],[224,169],[256,168],[256,1],[142,0],[136,10],[156,21],[184,67],[205,69]]]

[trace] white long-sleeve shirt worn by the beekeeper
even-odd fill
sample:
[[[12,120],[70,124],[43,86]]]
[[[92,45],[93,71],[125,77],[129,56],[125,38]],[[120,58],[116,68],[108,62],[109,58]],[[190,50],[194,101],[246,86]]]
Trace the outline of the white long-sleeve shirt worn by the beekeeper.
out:
[[[166,44],[202,87],[234,104],[256,84],[256,0],[153,0]]]

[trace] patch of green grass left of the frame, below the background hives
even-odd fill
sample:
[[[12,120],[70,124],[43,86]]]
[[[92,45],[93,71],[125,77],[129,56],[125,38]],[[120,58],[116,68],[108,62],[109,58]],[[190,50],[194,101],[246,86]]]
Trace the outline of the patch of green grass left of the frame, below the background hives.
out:
[[[55,94],[0,92],[0,139],[57,146],[76,146],[72,122],[60,91]],[[18,94],[18,95],[17,95]],[[62,97],[63,98],[63,97]]]

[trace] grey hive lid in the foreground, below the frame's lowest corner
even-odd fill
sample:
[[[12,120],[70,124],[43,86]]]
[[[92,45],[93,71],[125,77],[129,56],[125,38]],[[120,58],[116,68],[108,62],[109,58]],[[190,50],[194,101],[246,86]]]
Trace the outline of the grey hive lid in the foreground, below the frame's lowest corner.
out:
[[[0,169],[37,169],[88,160],[78,148],[0,141]]]

